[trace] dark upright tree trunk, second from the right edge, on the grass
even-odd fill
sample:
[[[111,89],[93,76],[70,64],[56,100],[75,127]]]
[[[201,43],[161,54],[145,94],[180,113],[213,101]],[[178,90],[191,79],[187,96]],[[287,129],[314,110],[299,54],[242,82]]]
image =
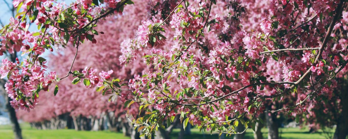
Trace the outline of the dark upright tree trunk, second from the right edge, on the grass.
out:
[[[268,127],[268,139],[278,139],[278,121],[275,113],[271,111],[272,105],[266,106],[266,121]]]

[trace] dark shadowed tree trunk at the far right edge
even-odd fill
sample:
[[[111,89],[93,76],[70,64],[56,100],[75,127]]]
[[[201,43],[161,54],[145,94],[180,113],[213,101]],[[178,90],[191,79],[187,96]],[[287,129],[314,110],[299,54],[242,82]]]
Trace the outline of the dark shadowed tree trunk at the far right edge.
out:
[[[337,121],[337,127],[335,133],[333,135],[333,139],[345,139],[348,135],[348,84],[347,79],[344,81],[345,83],[342,85],[342,91],[340,94],[341,98],[341,106],[342,111],[340,113],[340,117]]]

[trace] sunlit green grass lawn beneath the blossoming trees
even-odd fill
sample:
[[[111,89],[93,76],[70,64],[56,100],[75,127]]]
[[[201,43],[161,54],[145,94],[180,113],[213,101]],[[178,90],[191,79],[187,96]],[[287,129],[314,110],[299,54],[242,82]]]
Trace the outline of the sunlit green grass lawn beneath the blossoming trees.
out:
[[[29,124],[21,124],[24,139],[130,139],[124,137],[122,133],[110,131],[75,131],[73,129],[60,130],[37,130],[30,127]],[[171,138],[176,139],[180,129],[174,129]],[[267,138],[267,129],[262,129],[263,137]],[[308,129],[299,128],[280,128],[279,135],[282,139],[325,139],[323,132],[308,133]],[[191,135],[185,136],[185,139],[218,139],[219,134],[213,132],[200,133],[198,129],[191,129]],[[13,139],[13,132],[10,125],[0,125],[0,138]],[[232,137],[225,137],[225,139]],[[245,135],[246,139],[253,139],[253,132],[248,129]]]

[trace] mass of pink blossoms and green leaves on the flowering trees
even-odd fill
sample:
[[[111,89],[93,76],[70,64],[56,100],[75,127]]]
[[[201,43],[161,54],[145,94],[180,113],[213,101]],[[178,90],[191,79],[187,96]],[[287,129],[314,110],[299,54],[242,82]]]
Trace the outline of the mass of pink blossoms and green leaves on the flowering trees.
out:
[[[178,117],[184,128],[231,135],[256,130],[266,112],[337,124],[334,138],[347,136],[343,0],[13,4],[0,50],[26,58],[4,59],[0,74],[11,105],[34,109],[20,112],[28,121],[126,114],[149,137]],[[27,31],[29,22],[38,31]],[[47,65],[43,54],[54,50],[62,51]],[[318,120],[329,115],[340,122]]]

